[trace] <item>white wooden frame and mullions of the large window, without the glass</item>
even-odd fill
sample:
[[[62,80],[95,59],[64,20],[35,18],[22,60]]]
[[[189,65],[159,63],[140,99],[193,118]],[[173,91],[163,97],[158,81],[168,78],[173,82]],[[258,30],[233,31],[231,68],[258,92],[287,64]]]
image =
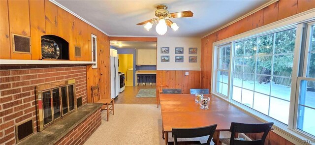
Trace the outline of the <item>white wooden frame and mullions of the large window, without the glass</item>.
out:
[[[301,47],[302,47],[302,34],[303,32],[303,28],[305,27],[305,23],[311,22],[315,20],[315,9],[311,9],[296,15],[293,15],[291,17],[285,18],[283,20],[279,20],[276,21],[274,23],[256,28],[256,29],[252,29],[249,31],[246,31],[244,33],[214,42],[212,44],[212,54],[213,54],[213,58],[212,58],[212,72],[214,72],[212,74],[211,77],[211,93],[215,96],[219,96],[221,97],[223,100],[231,103],[232,105],[236,106],[237,108],[239,108],[242,111],[245,111],[249,114],[251,114],[252,116],[256,116],[258,119],[262,120],[263,122],[275,122],[274,124],[274,132],[281,135],[282,137],[284,137],[286,140],[298,144],[298,143],[302,143],[302,139],[307,140],[307,139],[314,139],[314,137],[307,135],[305,133],[302,133],[301,131],[298,131],[296,129],[296,107],[297,107],[297,101],[298,101],[298,96],[296,96],[297,93],[297,83],[298,83],[298,73],[301,67],[300,64],[300,56],[301,53]],[[315,23],[315,22],[314,22]],[[272,119],[271,117],[267,117],[264,115],[261,115],[262,113],[259,113],[258,111],[255,111],[249,107],[246,107],[245,105],[240,105],[241,103],[232,100],[231,99],[231,74],[232,71],[231,68],[229,69],[229,90],[228,90],[228,97],[223,97],[222,95],[216,93],[216,68],[217,68],[217,56],[218,56],[218,46],[224,45],[224,44],[228,44],[228,43],[232,43],[232,47],[231,47],[231,57],[234,56],[234,45],[236,41],[242,41],[245,39],[249,39],[249,38],[253,38],[253,37],[259,37],[260,35],[265,35],[271,32],[276,32],[280,29],[288,29],[289,27],[293,27],[293,26],[297,26],[297,30],[296,30],[296,41],[295,41],[295,49],[294,49],[294,56],[299,56],[299,59],[293,59],[293,68],[292,68],[292,85],[291,85],[291,96],[290,96],[290,106],[289,106],[289,120],[288,120],[288,125],[284,125],[280,122],[278,122],[275,119]],[[307,53],[307,51],[305,52]],[[234,60],[232,58],[230,58],[230,67],[233,65],[234,66]],[[305,63],[305,62],[304,62]],[[304,64],[305,65],[305,64]],[[298,66],[298,67],[296,67]],[[295,67],[295,68],[294,68]],[[304,67],[305,68],[305,67]],[[296,77],[294,77],[296,76]]]

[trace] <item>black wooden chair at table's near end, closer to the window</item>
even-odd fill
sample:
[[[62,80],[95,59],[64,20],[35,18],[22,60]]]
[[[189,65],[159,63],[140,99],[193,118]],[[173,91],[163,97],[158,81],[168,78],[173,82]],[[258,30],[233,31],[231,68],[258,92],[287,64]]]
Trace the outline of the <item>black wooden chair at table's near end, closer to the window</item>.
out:
[[[263,123],[263,124],[245,124],[232,122],[230,127],[231,138],[220,139],[222,145],[264,145],[266,137],[274,123]],[[235,138],[236,133],[263,133],[261,139],[253,141],[246,141],[242,138]]]

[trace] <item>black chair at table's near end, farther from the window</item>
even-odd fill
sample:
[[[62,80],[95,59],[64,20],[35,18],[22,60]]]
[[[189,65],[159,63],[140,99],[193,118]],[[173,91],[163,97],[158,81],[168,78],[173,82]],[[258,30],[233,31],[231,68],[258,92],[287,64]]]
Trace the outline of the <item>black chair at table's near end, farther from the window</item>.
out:
[[[174,142],[167,142],[167,145],[210,145],[216,128],[217,124],[198,128],[172,128]],[[207,143],[201,144],[200,141],[177,141],[178,138],[197,138],[203,136],[209,136]]]

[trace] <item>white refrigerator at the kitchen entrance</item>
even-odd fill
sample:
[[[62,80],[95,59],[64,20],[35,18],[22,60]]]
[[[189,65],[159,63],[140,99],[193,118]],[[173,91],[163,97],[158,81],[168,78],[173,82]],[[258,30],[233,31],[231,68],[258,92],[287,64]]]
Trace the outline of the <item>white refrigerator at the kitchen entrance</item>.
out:
[[[111,98],[118,96],[120,89],[120,79],[118,75],[118,55],[117,50],[110,49],[110,87]]]

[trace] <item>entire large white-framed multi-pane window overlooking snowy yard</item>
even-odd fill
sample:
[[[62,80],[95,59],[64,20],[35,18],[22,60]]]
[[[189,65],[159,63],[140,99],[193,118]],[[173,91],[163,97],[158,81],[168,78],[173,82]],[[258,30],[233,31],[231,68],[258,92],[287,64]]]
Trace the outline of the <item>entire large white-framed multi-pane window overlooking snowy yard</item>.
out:
[[[215,42],[212,93],[287,132],[315,138],[314,19]]]

